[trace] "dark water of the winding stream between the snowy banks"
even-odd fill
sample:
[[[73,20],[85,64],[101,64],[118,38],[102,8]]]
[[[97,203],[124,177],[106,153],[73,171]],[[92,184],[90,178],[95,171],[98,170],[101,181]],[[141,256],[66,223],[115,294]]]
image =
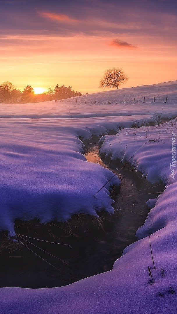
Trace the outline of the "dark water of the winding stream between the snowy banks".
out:
[[[88,161],[99,161],[99,164],[108,167],[114,173],[122,167],[122,163],[110,163],[108,166],[109,161],[100,160],[97,143],[87,146]],[[26,225],[17,221],[15,231],[21,235],[54,242],[56,241],[54,235],[57,235],[57,242],[70,246],[17,236],[22,242],[19,246],[12,246],[9,250],[2,249],[0,252],[0,286],[58,287],[111,270],[124,248],[136,241],[136,230],[143,225],[148,214],[146,201],[149,198],[156,198],[163,192],[163,184],[153,187],[130,165],[121,170],[121,179],[121,186],[112,196],[116,214],[109,217],[108,214],[100,213],[105,232],[102,228],[98,229],[98,225],[94,228],[95,221],[93,220],[93,224],[91,218],[88,220],[84,215],[81,218],[80,215],[76,216],[74,225],[71,228],[68,225],[67,232],[64,231],[64,224],[56,222],[48,224],[47,232],[48,235],[50,233],[50,237],[46,237],[45,225],[36,226],[32,222]],[[73,232],[76,236],[73,236]],[[57,257],[63,259],[65,263]]]

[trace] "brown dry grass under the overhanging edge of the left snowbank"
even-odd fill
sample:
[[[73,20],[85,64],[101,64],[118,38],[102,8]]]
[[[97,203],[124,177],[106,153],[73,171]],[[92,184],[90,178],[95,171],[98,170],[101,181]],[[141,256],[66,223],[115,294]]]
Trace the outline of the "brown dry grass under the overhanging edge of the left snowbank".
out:
[[[98,233],[107,232],[114,219],[121,216],[119,211],[115,210],[115,214],[110,216],[108,213],[101,211],[98,213],[100,217],[87,214],[75,214],[68,222],[52,221],[46,224],[40,224],[39,220],[31,221],[15,221],[15,232],[17,240],[19,236],[31,237],[34,240],[49,241],[64,244],[66,238],[85,236],[96,236]],[[25,247],[20,242],[14,242],[15,236],[8,238],[7,231],[0,232],[0,255],[8,255],[14,251],[24,251]],[[25,238],[26,241],[29,240]],[[19,254],[19,253],[18,253]]]

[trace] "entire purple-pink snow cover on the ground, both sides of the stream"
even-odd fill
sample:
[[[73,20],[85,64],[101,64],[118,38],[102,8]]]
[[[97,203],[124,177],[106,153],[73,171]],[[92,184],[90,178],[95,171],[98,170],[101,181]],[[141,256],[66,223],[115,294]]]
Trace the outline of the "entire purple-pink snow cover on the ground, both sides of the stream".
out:
[[[95,215],[98,204],[102,208],[110,205],[108,189],[112,184],[118,185],[119,180],[110,180],[95,199],[95,192],[112,177],[112,172],[86,162],[83,156],[80,139],[85,141],[93,135],[104,135],[100,140],[101,154],[128,161],[148,181],[163,181],[166,188],[157,199],[147,202],[152,209],[137,230],[139,241],[125,248],[113,270],[59,288],[1,288],[0,313],[177,313],[177,174],[173,171],[174,154],[172,157],[176,87],[177,82],[167,82],[80,96],[77,105],[71,99],[57,105],[49,102],[12,106],[13,118],[1,120],[3,229],[12,230],[15,218],[32,219],[36,215],[41,222],[53,217],[65,220],[74,212],[83,212],[83,204],[89,204],[86,210]],[[98,104],[94,105],[95,101]],[[7,107],[1,106],[2,114],[9,114]],[[35,116],[34,108],[40,119],[30,119]],[[68,109],[74,119],[66,119]],[[162,118],[173,120],[158,124]],[[107,135],[110,130],[120,131]],[[170,163],[175,166],[170,167]]]

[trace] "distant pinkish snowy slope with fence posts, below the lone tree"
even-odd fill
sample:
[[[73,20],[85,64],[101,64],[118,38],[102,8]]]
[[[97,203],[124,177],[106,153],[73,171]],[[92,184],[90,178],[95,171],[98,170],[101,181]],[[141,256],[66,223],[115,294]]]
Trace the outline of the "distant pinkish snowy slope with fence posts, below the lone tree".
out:
[[[176,117],[177,81],[155,85],[110,90],[83,95],[60,102],[1,104],[3,118],[91,118],[97,116],[131,116],[154,114]],[[143,99],[145,97],[145,102]],[[155,97],[155,102],[154,98]],[[167,102],[166,101],[167,98]],[[134,102],[135,98],[135,102]],[[77,102],[76,102],[77,100]],[[125,101],[125,103],[124,103]]]

